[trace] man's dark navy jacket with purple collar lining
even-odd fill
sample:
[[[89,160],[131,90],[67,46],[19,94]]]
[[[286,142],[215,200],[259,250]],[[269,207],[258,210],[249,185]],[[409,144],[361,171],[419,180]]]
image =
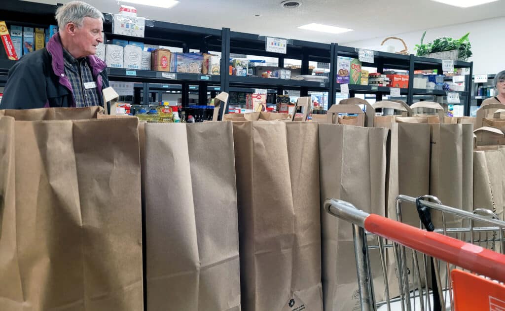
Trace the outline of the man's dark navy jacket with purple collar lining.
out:
[[[107,65],[94,55],[87,61],[101,101],[102,89],[109,86]],[[64,68],[60,34],[56,33],[46,48],[23,56],[9,70],[0,109],[75,107]]]

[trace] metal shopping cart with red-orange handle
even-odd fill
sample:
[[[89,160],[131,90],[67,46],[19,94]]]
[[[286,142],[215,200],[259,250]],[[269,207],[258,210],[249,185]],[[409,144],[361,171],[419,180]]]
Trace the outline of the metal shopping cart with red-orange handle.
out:
[[[411,205],[419,212],[420,228],[401,223],[402,202],[414,203]],[[336,199],[327,199],[324,208],[353,224],[362,311],[505,311],[505,255],[491,250],[505,249],[505,222],[491,211],[471,213],[442,205],[433,196],[403,195],[396,199],[398,221]],[[441,213],[442,228],[431,223],[435,212]],[[447,228],[447,217],[460,217],[461,228]],[[370,235],[375,236],[377,245],[368,246]],[[376,301],[369,253],[379,251],[382,275],[387,276],[388,249],[394,254],[399,295],[391,297],[384,277],[385,301]]]

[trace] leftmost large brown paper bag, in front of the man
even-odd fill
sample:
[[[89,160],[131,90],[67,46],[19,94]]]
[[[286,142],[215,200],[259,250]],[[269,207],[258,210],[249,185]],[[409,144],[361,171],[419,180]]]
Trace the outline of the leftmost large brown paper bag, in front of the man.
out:
[[[5,122],[0,309],[142,310],[138,120]]]

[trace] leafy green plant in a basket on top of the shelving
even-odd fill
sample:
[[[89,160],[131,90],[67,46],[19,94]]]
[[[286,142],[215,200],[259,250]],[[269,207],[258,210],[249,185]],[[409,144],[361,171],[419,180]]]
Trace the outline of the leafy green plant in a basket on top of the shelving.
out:
[[[439,37],[433,42],[423,43],[426,31],[421,36],[421,43],[416,45],[416,55],[431,58],[467,60],[472,56],[472,45],[468,36],[470,32],[459,39]]]

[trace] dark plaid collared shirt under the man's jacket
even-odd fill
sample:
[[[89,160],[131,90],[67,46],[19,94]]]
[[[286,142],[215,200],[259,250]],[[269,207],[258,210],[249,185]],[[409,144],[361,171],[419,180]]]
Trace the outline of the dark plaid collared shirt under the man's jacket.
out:
[[[63,49],[63,59],[65,74],[72,85],[75,106],[99,106],[100,98],[96,84],[92,88],[84,87],[84,83],[95,82],[86,58],[75,59],[67,50]]]

